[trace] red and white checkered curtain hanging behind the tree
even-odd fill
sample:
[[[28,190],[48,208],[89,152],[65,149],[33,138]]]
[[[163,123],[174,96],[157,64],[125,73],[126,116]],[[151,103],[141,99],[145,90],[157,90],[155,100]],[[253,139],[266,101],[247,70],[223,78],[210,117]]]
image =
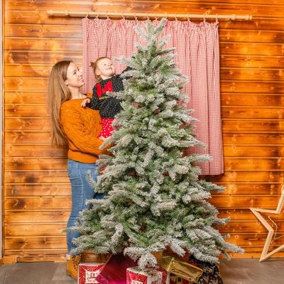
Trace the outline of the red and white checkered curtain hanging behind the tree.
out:
[[[158,21],[153,21],[158,24]],[[82,19],[84,92],[92,92],[94,75],[90,62],[101,56],[111,59],[131,58],[134,43],[142,43],[134,26],[145,27],[145,21],[112,21],[111,19]],[[203,21],[166,21],[163,35],[170,35],[167,48],[175,47],[177,67],[188,77],[184,92],[190,97],[188,106],[194,109],[197,138],[206,148],[190,149],[189,153],[206,153],[212,161],[200,163],[202,175],[219,175],[224,172],[222,124],[219,89],[219,35],[218,23]],[[124,70],[114,62],[116,74]]]

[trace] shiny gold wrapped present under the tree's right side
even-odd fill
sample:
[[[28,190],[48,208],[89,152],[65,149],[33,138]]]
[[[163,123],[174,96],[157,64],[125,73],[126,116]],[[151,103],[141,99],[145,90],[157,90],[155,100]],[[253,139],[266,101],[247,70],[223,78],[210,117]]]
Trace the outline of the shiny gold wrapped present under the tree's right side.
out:
[[[173,256],[162,256],[157,259],[158,265],[164,268],[168,273],[173,273],[180,278],[189,280],[193,283],[197,282],[203,273],[203,270],[197,266],[192,266],[192,264],[185,261],[179,261]]]

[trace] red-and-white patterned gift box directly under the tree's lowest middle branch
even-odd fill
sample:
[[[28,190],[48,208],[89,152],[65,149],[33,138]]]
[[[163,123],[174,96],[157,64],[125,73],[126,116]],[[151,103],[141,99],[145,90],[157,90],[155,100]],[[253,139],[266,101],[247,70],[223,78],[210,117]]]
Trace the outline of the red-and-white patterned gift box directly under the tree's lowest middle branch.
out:
[[[126,284],[162,284],[163,273],[155,268],[127,268]]]

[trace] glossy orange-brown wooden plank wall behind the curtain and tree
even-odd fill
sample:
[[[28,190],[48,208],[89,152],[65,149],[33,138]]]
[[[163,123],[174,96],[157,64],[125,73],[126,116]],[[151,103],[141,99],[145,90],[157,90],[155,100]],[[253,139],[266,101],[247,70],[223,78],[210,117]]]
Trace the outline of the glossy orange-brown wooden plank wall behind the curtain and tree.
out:
[[[92,7],[92,0],[5,0],[6,262],[64,259],[70,185],[66,151],[50,146],[45,94],[55,62],[82,62],[81,20],[49,18],[45,11]],[[211,180],[227,187],[212,199],[222,217],[232,218],[222,232],[246,249],[234,257],[259,257],[266,229],[248,208],[274,209],[284,178],[284,1],[99,0],[96,9],[253,15],[251,22],[219,24],[225,173]],[[283,234],[283,214],[273,218]]]

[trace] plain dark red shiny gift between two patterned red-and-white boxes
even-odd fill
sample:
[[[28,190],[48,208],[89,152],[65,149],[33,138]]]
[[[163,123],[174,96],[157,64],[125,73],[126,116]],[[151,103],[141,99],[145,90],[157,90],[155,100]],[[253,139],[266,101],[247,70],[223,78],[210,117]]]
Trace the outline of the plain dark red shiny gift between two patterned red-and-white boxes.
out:
[[[126,284],[126,269],[137,263],[122,253],[113,254],[97,276],[100,284]]]

